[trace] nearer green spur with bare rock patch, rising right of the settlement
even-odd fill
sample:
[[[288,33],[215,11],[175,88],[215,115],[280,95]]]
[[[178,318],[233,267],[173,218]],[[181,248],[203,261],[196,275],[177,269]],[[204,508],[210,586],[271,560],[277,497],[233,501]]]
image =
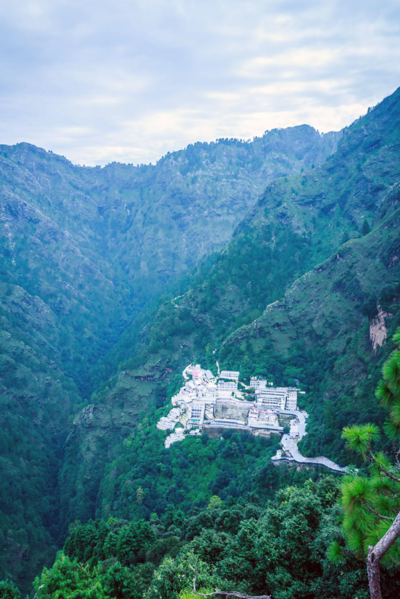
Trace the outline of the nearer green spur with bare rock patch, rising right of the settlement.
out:
[[[297,280],[262,317],[226,339],[222,364],[301,381],[311,414],[304,455],[348,464],[341,432],[353,423],[381,425],[375,397],[381,367],[400,323],[400,187],[381,203],[371,233],[340,246]],[[324,425],[324,430],[321,430]],[[390,442],[389,442],[390,445]]]

